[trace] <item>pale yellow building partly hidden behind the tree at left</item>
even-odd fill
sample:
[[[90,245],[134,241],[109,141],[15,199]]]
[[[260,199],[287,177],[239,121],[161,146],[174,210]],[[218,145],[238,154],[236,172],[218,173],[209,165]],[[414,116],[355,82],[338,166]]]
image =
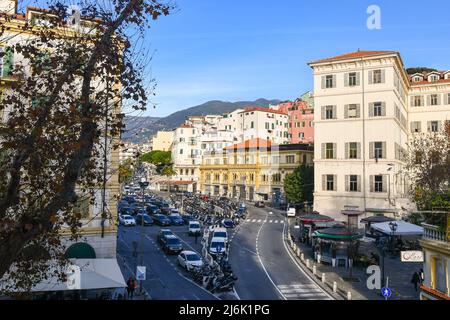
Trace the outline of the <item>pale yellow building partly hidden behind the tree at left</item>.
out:
[[[13,65],[18,61],[23,61],[23,57],[10,48],[19,41],[32,39],[35,35],[31,31],[24,31],[23,26],[27,23],[38,23],[39,19],[45,16],[48,11],[27,7],[26,13],[17,13],[17,0],[0,0],[0,19],[8,29],[5,31],[0,41],[0,51],[6,54],[0,58],[0,92],[4,94],[12,90],[11,84],[18,81],[12,73]],[[81,20],[82,25],[94,23]],[[68,37],[71,35],[70,27],[64,27],[64,32]],[[67,29],[67,30],[66,30]],[[120,103],[118,103],[120,105]],[[120,108],[120,107],[119,107]],[[115,108],[114,113],[120,110]],[[6,121],[8,111],[0,111],[0,121]],[[103,138],[101,139],[103,141]],[[106,188],[99,187],[95,193],[95,202],[90,204],[89,196],[79,194],[81,199],[76,206],[81,214],[81,238],[74,243],[69,237],[63,237],[62,241],[67,248],[66,255],[74,259],[95,259],[93,264],[101,265],[103,271],[110,272],[109,275],[115,275],[115,279],[109,278],[117,286],[124,285],[123,277],[116,260],[117,243],[117,200],[115,196],[119,195],[119,150],[113,149],[112,144],[118,142],[118,137],[109,137],[106,139],[108,146],[107,152],[107,184]],[[103,159],[102,159],[103,160]],[[105,199],[106,206],[102,206],[102,199]],[[102,219],[101,213],[106,211],[108,219]],[[63,235],[69,235],[70,230],[62,231]],[[108,276],[98,274],[99,278],[107,279]],[[99,280],[99,284],[101,280]],[[100,284],[101,286],[101,284]],[[49,286],[50,288],[51,286]],[[55,289],[57,290],[57,289]],[[45,291],[45,290],[44,290]]]

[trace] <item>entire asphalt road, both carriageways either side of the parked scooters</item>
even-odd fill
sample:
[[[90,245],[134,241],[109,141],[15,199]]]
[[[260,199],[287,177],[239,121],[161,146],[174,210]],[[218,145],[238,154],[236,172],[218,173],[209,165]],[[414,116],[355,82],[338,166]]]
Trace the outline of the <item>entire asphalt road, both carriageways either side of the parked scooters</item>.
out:
[[[201,252],[201,238],[187,234],[187,226],[170,226],[182,241],[184,250]],[[236,298],[243,300],[310,300],[330,299],[313,282],[289,255],[283,241],[287,228],[286,217],[269,208],[248,206],[248,216],[237,228],[229,229],[229,261],[238,280],[235,284]],[[140,243],[143,231],[144,250],[133,256],[133,241]],[[147,279],[143,287],[155,300],[215,300],[215,296],[200,287],[177,263],[176,255],[161,251],[156,236],[161,227],[119,227],[117,253],[125,264],[127,278],[134,273],[136,265],[147,267]],[[230,295],[222,299],[233,299]]]

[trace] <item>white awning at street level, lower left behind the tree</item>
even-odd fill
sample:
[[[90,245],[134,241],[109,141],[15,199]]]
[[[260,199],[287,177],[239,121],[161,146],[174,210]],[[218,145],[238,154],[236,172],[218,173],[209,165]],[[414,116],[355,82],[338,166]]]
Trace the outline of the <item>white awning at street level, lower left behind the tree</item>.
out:
[[[127,286],[116,259],[70,259],[70,261],[80,268],[79,282],[75,287],[59,281],[56,276],[49,276],[48,279],[35,285],[31,292],[101,290]],[[53,271],[49,270],[47,274],[51,275]]]

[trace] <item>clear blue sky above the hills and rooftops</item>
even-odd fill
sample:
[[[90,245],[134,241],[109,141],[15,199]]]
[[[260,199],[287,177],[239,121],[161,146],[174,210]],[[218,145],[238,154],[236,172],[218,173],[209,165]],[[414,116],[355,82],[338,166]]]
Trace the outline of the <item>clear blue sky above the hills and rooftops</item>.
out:
[[[177,0],[146,39],[156,96],[145,115],[208,100],[295,99],[312,89],[307,62],[358,48],[398,50],[409,66],[450,69],[448,0]],[[381,8],[381,30],[366,27]]]

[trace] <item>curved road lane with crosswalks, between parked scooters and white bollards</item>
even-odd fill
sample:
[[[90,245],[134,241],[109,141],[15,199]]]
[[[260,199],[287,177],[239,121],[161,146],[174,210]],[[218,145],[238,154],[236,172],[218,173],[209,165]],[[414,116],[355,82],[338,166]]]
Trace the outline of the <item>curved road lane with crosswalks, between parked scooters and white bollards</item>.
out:
[[[283,241],[286,217],[248,206],[249,215],[232,240],[230,262],[245,300],[330,299],[289,256]]]

